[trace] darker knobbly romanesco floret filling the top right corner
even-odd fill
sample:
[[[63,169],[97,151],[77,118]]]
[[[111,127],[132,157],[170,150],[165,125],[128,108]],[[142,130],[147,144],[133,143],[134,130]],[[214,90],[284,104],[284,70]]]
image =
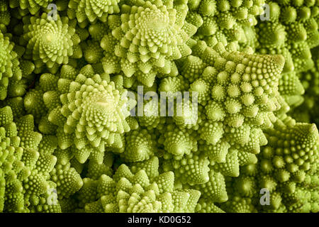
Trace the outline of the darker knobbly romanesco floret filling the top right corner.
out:
[[[284,72],[313,67],[311,48],[319,45],[318,1],[269,1],[270,20],[257,26],[258,51],[286,58]]]

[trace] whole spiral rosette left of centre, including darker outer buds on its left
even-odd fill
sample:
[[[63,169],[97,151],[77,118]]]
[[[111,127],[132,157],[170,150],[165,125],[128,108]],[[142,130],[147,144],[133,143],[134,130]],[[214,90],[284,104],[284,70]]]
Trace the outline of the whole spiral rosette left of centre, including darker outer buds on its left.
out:
[[[88,158],[101,163],[105,148],[122,148],[122,134],[130,131],[125,121],[128,98],[126,90],[120,90],[108,75],[95,74],[91,65],[79,72],[64,65],[60,79],[48,73],[40,76],[24,106],[29,113],[43,114],[39,130],[56,134],[61,150],[72,150],[81,163]]]

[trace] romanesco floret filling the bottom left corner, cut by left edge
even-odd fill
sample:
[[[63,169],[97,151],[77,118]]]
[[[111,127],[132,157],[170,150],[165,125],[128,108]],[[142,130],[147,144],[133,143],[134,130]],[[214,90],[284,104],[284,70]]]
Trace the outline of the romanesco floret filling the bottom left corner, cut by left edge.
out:
[[[33,116],[14,123],[11,108],[6,106],[0,109],[0,125],[0,211],[60,212],[58,203],[40,202],[51,193],[50,172],[57,157],[43,149],[49,148],[47,139],[33,131]]]

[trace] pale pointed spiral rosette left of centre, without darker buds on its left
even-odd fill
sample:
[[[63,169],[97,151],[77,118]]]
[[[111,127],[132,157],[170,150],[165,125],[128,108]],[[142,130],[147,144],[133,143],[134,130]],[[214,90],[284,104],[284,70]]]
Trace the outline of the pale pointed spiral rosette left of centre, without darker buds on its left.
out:
[[[101,163],[105,146],[123,147],[121,134],[130,131],[125,121],[130,114],[125,106],[128,98],[125,90],[120,94],[113,82],[99,74],[84,74],[78,74],[74,81],[57,81],[61,106],[50,111],[48,120],[58,126],[57,142],[62,150],[74,145],[79,162],[90,157]],[[43,95],[44,101],[51,97],[48,92]]]

